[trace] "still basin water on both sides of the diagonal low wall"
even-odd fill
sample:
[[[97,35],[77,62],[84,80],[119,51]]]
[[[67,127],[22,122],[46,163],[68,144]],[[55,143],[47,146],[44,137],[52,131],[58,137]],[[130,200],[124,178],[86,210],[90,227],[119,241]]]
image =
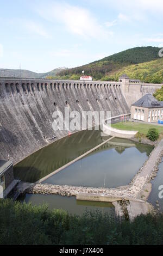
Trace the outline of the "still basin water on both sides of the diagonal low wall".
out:
[[[95,130],[81,131],[71,137],[60,139],[18,163],[14,168],[15,177],[23,181],[35,182],[106,139],[108,137],[101,137],[101,131]],[[108,186],[119,186],[121,185],[119,181],[127,185],[143,165],[151,150],[152,147],[148,145],[114,138],[45,182],[101,187],[106,174],[106,182],[109,179],[107,184],[110,184]],[[123,174],[122,179],[119,176],[120,169],[121,175]]]

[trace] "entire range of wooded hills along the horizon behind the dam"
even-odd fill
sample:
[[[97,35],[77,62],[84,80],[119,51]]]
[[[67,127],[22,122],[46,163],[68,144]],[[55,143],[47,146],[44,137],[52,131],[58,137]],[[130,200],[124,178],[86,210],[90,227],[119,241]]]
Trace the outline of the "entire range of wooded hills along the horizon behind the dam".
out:
[[[0,77],[33,77],[54,78],[61,80],[79,80],[82,71],[93,80],[118,81],[122,74],[130,78],[140,79],[146,83],[163,82],[163,58],[160,58],[158,47],[135,47],[113,54],[96,62],[73,69],[54,69],[37,74],[29,70],[0,69]]]

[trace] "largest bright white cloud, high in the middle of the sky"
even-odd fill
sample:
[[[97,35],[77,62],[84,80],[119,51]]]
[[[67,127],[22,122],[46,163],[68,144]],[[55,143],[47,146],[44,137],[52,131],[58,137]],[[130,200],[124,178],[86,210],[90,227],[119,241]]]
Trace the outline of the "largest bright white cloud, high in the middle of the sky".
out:
[[[64,25],[68,32],[83,36],[84,38],[108,38],[108,32],[89,10],[66,3],[51,3],[42,6],[39,14],[52,22],[58,21]]]

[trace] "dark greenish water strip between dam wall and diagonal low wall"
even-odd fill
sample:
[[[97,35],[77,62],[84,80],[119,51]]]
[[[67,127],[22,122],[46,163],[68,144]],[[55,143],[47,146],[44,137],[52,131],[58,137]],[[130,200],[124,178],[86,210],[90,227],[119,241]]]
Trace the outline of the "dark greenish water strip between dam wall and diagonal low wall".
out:
[[[35,182],[102,143],[100,131],[80,131],[54,142],[14,166],[15,178]]]

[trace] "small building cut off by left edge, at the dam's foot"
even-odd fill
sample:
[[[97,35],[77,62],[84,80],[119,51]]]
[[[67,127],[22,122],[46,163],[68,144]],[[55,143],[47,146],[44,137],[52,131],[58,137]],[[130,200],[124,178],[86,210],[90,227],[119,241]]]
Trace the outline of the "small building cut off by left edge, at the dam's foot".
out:
[[[13,163],[0,160],[0,198],[7,198],[14,194],[18,182],[14,179]]]

